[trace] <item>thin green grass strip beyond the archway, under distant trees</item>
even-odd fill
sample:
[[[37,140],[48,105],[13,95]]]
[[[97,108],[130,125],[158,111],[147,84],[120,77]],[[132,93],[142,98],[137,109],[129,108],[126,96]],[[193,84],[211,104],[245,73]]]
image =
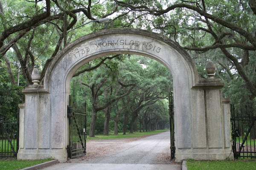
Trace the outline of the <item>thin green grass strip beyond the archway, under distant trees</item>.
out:
[[[162,132],[166,132],[167,130],[154,130],[149,132],[135,132],[135,133],[126,133],[126,135],[123,135],[122,133],[119,133],[118,135],[114,135],[113,133],[109,134],[108,136],[105,135],[95,135],[95,137],[89,137],[87,136],[88,140],[95,140],[95,139],[120,139],[120,138],[136,138],[140,136],[149,136],[154,135]]]

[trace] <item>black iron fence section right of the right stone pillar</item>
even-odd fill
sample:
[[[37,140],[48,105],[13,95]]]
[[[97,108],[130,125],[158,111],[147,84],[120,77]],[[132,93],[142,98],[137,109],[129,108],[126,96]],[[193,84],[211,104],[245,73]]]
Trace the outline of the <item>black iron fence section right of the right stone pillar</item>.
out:
[[[235,159],[256,159],[256,116],[231,109],[232,141]]]

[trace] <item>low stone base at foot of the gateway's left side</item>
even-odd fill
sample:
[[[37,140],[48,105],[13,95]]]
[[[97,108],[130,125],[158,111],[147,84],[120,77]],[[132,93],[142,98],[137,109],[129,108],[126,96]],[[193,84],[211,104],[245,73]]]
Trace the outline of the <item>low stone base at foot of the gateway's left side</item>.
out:
[[[67,150],[63,149],[19,149],[17,159],[57,159],[67,161]]]

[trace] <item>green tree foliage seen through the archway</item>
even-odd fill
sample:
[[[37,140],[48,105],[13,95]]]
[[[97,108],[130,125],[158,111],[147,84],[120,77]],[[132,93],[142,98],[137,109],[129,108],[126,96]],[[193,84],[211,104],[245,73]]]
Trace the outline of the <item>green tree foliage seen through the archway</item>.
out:
[[[101,61],[102,59],[95,59],[79,68],[77,72],[83,69],[93,68]],[[128,114],[129,120],[127,127],[129,129],[131,127],[130,121],[133,111],[137,109],[139,111],[141,108],[144,108],[147,101],[143,100],[147,97],[155,98],[155,102],[152,102],[151,105],[148,106],[148,109],[145,107],[144,110],[141,110],[140,116],[143,117],[143,114],[148,116],[148,113],[150,113],[149,118],[152,119],[150,125],[152,126],[151,129],[155,129],[158,124],[163,124],[164,127],[166,122],[169,121],[169,106],[168,102],[163,99],[163,96],[167,96],[169,90],[172,88],[172,79],[167,68],[159,62],[136,55],[121,55],[114,59],[107,59],[104,64],[100,65],[98,68],[80,74],[78,77],[74,77],[70,84],[71,93],[79,105],[85,101],[87,102],[87,125],[90,124],[89,122],[93,110],[93,94],[90,88],[98,87],[102,82],[104,83],[97,92],[99,96],[95,98],[97,100],[95,103],[95,105],[97,105],[96,107],[105,105],[105,103],[113,98],[125,94],[128,89],[131,88],[131,84],[134,85],[134,89],[128,96],[124,96],[122,99],[111,103],[110,116],[111,119],[119,119],[117,123],[119,132],[123,130],[123,118],[125,114]],[[127,87],[120,86],[119,82],[122,82],[123,85],[127,85]],[[155,96],[150,96],[151,94]],[[159,99],[157,99],[157,97],[159,97]],[[162,97],[162,100],[160,97]],[[139,102],[140,100],[142,101],[141,103]],[[126,104],[127,102],[128,105]],[[125,105],[127,105],[127,109],[119,113]],[[102,133],[104,121],[105,114],[99,112],[96,120],[96,134]],[[87,130],[88,129],[89,127],[87,127]],[[114,130],[113,121],[109,124],[109,130]]]

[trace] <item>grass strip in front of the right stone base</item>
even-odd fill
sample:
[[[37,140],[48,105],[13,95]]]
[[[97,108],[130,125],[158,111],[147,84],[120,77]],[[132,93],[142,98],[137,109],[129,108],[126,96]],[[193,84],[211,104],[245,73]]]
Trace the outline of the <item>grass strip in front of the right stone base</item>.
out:
[[[188,160],[187,170],[256,170],[256,159],[234,161]]]

